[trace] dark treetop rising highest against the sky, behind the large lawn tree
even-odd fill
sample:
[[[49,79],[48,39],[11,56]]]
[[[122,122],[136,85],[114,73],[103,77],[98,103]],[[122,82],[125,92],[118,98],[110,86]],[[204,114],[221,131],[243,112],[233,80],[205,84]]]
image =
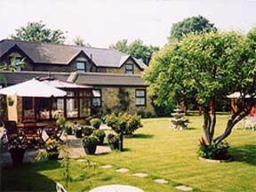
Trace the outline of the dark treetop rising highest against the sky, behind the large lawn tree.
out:
[[[216,31],[217,28],[209,20],[201,15],[193,16],[185,20],[181,20],[172,24],[170,36],[168,36],[169,42],[173,40],[179,40],[183,36],[187,36],[189,33],[208,33]]]

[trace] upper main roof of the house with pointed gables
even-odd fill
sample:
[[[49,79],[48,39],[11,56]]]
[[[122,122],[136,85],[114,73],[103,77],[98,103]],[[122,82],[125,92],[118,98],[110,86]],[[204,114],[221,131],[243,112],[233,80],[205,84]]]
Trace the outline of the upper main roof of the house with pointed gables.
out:
[[[69,64],[76,55],[84,52],[98,67],[119,68],[125,60],[130,58],[123,52],[111,49],[84,47],[65,44],[43,44],[16,40],[3,40],[0,42],[0,57],[17,45],[35,63]],[[134,58],[132,58],[134,59]],[[135,59],[134,59],[135,60]],[[140,68],[147,68],[143,62],[135,60]]]

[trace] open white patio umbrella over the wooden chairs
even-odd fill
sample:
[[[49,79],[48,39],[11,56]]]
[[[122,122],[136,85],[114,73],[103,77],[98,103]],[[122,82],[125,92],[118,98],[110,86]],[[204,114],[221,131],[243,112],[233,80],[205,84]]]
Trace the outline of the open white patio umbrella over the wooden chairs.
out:
[[[51,85],[44,84],[44,82],[40,82],[33,78],[26,82],[1,89],[0,94],[17,95],[20,97],[51,98],[63,97],[67,94],[67,92],[57,89]]]

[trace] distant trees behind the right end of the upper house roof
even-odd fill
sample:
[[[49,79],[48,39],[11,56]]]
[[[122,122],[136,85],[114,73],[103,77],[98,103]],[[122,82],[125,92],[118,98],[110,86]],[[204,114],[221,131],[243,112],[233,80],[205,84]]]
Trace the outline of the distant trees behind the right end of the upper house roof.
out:
[[[130,54],[136,59],[143,60],[143,62],[147,65],[151,59],[152,54],[159,51],[159,47],[152,45],[148,46],[144,44],[140,39],[133,41],[131,44],[128,44],[127,39],[122,39],[116,42],[116,44],[109,45],[109,48]]]

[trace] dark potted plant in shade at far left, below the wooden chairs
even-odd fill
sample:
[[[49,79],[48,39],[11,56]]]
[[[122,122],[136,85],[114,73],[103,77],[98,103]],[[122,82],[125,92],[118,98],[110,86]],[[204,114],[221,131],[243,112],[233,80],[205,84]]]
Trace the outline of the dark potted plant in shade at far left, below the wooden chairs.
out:
[[[24,154],[28,148],[25,135],[9,136],[8,149],[12,156],[12,164],[22,164]]]

